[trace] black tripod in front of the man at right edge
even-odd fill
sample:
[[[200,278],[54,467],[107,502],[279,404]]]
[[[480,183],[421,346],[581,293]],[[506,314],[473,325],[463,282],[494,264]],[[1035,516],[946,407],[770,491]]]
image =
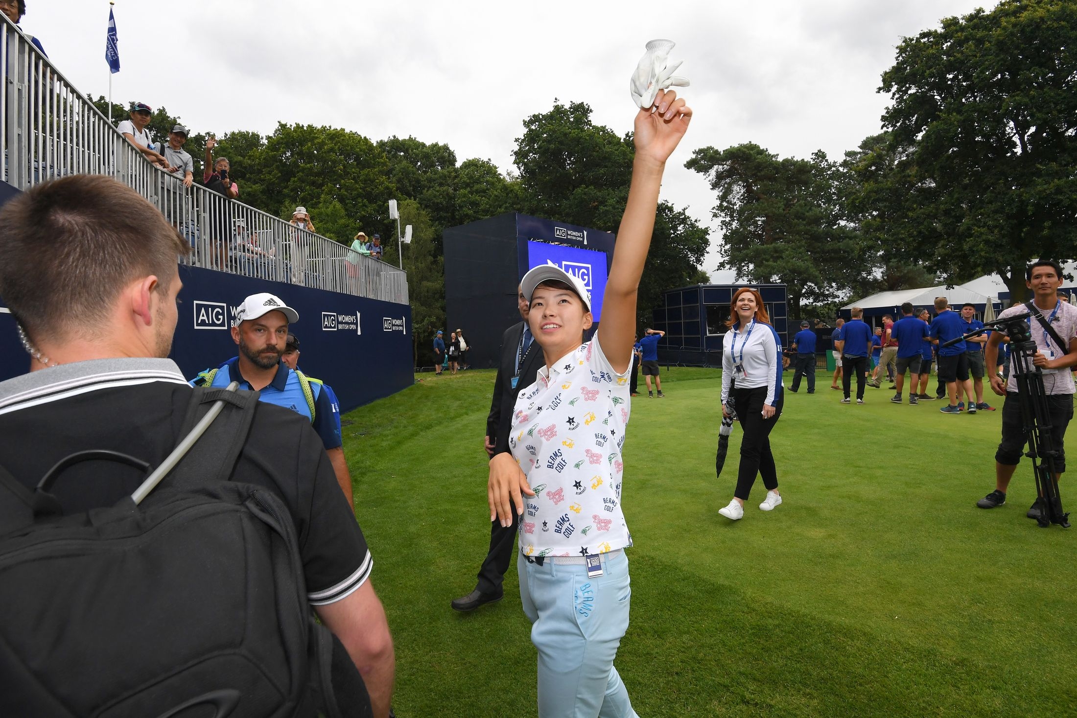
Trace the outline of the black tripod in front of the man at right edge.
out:
[[[1032,327],[1027,321],[1031,318],[1030,312],[1022,312],[1006,319],[988,322],[982,329],[969,332],[941,346],[956,343],[983,334],[988,329],[1002,329],[1009,337],[1010,372],[1017,381],[1017,398],[1021,407],[1022,431],[1029,441],[1029,450],[1025,455],[1032,460],[1032,469],[1036,477],[1037,501],[1041,506],[1036,521],[1043,529],[1052,523],[1068,529],[1069,515],[1063,512],[1062,497],[1059,495],[1059,471],[1055,468],[1059,450],[1051,439],[1051,412],[1044,389],[1044,375],[1032,361],[1038,349],[1032,339]]]

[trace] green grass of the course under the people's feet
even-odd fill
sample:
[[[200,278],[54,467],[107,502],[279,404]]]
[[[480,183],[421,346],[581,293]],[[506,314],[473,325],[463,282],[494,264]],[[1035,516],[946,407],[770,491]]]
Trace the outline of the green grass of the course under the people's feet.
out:
[[[489,540],[493,378],[423,375],[346,417],[402,717],[536,713],[515,565],[501,603],[449,608]],[[1001,411],[893,405],[885,384],[844,406],[820,372],[814,395],[786,393],[771,434],[784,504],[760,511],[757,482],[733,523],[718,509],[740,430],[715,480],[718,374],[662,379],[666,398],[633,399],[624,451],[635,546],[617,668],[641,716],[1077,715],[1077,527],[1024,517],[1027,460],[1006,506],[975,507],[994,488]],[[1077,483],[1062,494],[1077,509]]]

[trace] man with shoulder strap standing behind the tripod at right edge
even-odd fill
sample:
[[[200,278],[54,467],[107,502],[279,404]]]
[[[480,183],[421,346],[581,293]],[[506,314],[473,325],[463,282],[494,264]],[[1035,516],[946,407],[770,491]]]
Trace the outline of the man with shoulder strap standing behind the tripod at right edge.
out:
[[[1059,452],[1054,463],[1058,471],[1054,475],[1055,479],[1066,470],[1063,439],[1066,425],[1074,416],[1074,380],[1069,375],[1069,367],[1077,366],[1077,341],[1074,341],[1077,338],[1077,307],[1055,296],[1061,284],[1062,267],[1058,262],[1038,259],[1029,265],[1025,271],[1025,285],[1035,295],[1033,307],[1043,316],[1043,322],[1035,315],[1025,321],[1029,322],[1032,338],[1036,342],[1036,353],[1032,363],[1039,367],[1044,376],[1044,392],[1047,394],[1050,410],[1051,441]],[[998,319],[1021,314],[1025,310],[1024,305],[1017,305],[998,314]],[[1044,322],[1051,326],[1065,346],[1059,346]],[[1005,336],[1004,329],[991,333],[984,351],[987,366],[995,366],[998,344]],[[1010,350],[1011,356],[1015,351]],[[980,508],[995,508],[1006,503],[1006,489],[1027,441],[1021,420],[1021,405],[1018,402],[1017,378],[1012,369],[1009,372],[1009,382],[1005,384],[1002,377],[991,375],[991,390],[1006,397],[1003,404],[1003,438],[998,444],[998,451],[995,452],[995,490],[976,503]],[[1027,517],[1039,518],[1041,511],[1043,499],[1037,496],[1029,509]]]

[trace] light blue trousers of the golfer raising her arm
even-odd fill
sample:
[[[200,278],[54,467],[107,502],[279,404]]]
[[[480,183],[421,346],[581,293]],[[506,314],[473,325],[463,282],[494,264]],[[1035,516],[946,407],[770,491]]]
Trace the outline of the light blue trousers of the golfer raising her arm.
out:
[[[638,718],[613,667],[632,596],[625,552],[603,555],[597,578],[583,564],[516,564],[538,649],[540,718]]]

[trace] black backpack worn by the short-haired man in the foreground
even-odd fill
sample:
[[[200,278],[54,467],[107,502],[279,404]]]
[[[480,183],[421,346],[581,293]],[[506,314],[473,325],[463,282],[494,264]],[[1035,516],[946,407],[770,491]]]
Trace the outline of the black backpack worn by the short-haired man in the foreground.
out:
[[[73,454],[36,492],[0,467],[0,716],[370,715],[313,620],[288,509],[227,480],[257,397],[196,389],[184,439],[115,506],[59,516],[50,490],[89,459],[149,469],[131,456]]]

